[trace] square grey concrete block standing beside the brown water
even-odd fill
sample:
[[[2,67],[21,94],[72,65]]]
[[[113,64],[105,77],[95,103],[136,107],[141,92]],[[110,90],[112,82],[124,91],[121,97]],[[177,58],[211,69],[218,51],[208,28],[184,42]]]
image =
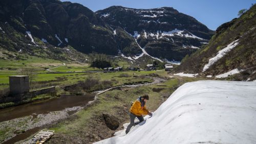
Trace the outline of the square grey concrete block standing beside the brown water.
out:
[[[23,94],[29,92],[29,76],[9,76],[10,94]]]

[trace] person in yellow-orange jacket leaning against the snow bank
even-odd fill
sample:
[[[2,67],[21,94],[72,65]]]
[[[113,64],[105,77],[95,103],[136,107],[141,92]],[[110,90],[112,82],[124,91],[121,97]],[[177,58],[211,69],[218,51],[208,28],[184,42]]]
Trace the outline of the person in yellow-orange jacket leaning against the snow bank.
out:
[[[148,111],[145,107],[146,105],[146,100],[148,100],[149,97],[148,95],[143,95],[143,96],[140,96],[138,97],[137,100],[134,101],[133,103],[133,106],[131,107],[130,109],[130,118],[131,118],[131,122],[129,124],[129,126],[127,126],[127,129],[125,131],[125,133],[129,133],[130,129],[134,126],[134,125],[137,125],[139,124],[140,122],[142,122],[144,120],[143,115],[152,115],[152,113],[150,111]],[[140,121],[139,122],[136,122],[134,123],[134,119],[135,117],[137,117]]]

